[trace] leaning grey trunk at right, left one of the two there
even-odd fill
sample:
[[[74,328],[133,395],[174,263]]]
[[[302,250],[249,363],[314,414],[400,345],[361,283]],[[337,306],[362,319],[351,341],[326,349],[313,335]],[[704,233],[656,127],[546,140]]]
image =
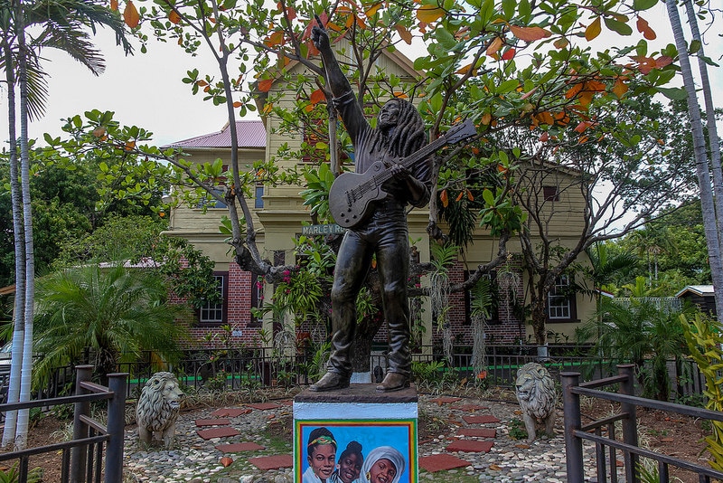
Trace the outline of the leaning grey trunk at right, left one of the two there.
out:
[[[700,119],[700,107],[696,97],[695,81],[693,80],[693,74],[690,69],[690,59],[688,58],[688,46],[683,37],[681,17],[678,14],[676,0],[666,0],[665,5],[668,9],[668,17],[671,21],[675,45],[678,49],[683,83],[685,90],[688,91],[688,112],[693,136],[696,173],[700,187],[700,206],[703,212],[703,226],[706,233],[706,242],[708,243],[710,274],[715,288],[718,322],[723,323],[723,262],[720,259],[720,242],[718,240],[717,229],[718,216],[710,187],[709,163],[706,156],[706,143],[705,137],[703,136],[702,121]]]

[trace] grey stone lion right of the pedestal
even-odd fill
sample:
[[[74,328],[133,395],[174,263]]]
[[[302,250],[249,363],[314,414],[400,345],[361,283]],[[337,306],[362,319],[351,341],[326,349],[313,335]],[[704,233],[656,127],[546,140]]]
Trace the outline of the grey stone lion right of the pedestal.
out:
[[[535,440],[535,423],[544,421],[545,432],[553,434],[555,427],[555,403],[558,393],[548,370],[538,363],[528,363],[517,370],[515,382],[517,401],[527,430],[527,442]]]

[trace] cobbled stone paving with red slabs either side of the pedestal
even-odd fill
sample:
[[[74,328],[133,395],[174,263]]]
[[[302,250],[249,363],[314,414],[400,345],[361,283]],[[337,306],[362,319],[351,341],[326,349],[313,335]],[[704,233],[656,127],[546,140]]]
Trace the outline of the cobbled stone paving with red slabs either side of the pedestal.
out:
[[[138,482],[290,483],[291,445],[269,440],[267,430],[275,424],[280,430],[291,417],[291,406],[291,400],[283,400],[183,412],[175,450],[144,450],[135,429],[128,430],[126,472]],[[515,403],[420,395],[420,417],[430,421],[427,427],[438,421],[446,433],[418,441],[419,480],[437,479],[445,471],[443,478],[451,482],[455,474],[479,481],[566,481],[560,434],[531,445],[513,440],[509,431],[511,421],[519,418],[517,410]]]

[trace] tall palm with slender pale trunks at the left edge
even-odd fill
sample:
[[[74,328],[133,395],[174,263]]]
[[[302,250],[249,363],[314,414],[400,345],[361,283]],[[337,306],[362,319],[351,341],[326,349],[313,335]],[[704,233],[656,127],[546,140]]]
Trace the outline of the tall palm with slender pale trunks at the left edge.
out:
[[[15,297],[16,307],[23,307],[22,310],[15,312],[14,360],[8,391],[10,403],[30,399],[33,367],[34,257],[27,128],[30,118],[42,115],[47,94],[45,74],[40,68],[38,52],[46,47],[61,49],[86,65],[93,73],[99,74],[104,68],[102,57],[90,42],[89,33],[83,31],[89,28],[95,32],[98,25],[113,29],[117,43],[122,43],[126,52],[130,52],[130,44],[127,43],[120,16],[95,1],[41,0],[23,3],[22,0],[11,0],[0,5],[0,27],[3,33],[0,40],[0,49],[2,49],[0,67],[5,69],[7,80],[10,161],[14,166],[14,169],[11,169],[14,176],[11,185],[14,187],[13,219],[17,280],[15,285],[18,288]],[[40,27],[40,34],[26,35],[26,28],[33,26]],[[17,143],[16,88],[19,88],[20,93],[20,138]],[[17,169],[18,145],[19,170]],[[23,355],[23,350],[27,354]],[[14,437],[15,447],[24,448],[28,416],[28,410],[8,413],[3,434],[4,446]]]

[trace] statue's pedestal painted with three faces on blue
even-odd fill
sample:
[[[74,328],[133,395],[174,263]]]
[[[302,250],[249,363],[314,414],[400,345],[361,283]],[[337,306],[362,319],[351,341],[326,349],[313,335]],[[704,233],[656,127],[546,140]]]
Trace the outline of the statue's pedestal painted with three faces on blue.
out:
[[[418,398],[414,387],[394,393],[377,393],[375,384],[351,384],[348,389],[329,393],[308,390],[299,393],[294,399],[295,483],[311,481],[304,478],[310,467],[308,445],[312,440],[309,436],[322,427],[333,434],[335,466],[353,440],[362,445],[365,460],[362,473],[369,469],[373,477],[373,465],[378,459],[403,459],[399,483],[417,483],[417,420]],[[324,471],[318,474],[324,476]],[[321,479],[324,483],[324,478]],[[327,478],[326,483],[332,483],[332,479]],[[359,482],[366,481],[368,479],[361,474]],[[371,483],[375,483],[373,478]]]

